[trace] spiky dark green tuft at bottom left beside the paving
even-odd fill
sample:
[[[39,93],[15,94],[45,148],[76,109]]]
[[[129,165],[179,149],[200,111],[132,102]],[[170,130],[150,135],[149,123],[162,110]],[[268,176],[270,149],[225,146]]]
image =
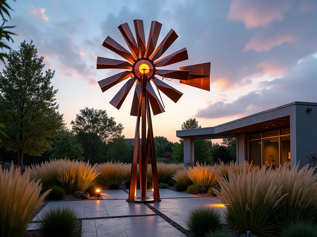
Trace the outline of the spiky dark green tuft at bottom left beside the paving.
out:
[[[37,223],[45,237],[74,236],[79,213],[70,207],[53,207],[45,210]]]

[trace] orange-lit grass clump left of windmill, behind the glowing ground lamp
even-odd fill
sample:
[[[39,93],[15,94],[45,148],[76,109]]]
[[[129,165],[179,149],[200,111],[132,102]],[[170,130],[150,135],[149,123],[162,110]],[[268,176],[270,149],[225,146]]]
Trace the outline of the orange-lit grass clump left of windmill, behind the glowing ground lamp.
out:
[[[76,174],[75,190],[85,192],[89,186],[95,183],[99,172],[95,169],[96,165],[91,166],[89,162],[75,161],[74,170]],[[121,181],[122,182],[122,181]]]

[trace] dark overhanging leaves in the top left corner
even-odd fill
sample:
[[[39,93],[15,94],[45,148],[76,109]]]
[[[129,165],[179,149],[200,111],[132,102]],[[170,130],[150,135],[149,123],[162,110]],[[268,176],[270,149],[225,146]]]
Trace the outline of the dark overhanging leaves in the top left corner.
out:
[[[13,39],[11,38],[11,35],[15,35],[15,33],[7,31],[7,29],[14,28],[15,26],[4,26],[4,24],[8,21],[4,17],[4,15],[7,15],[9,17],[9,19],[11,19],[9,10],[12,10],[12,9],[6,3],[6,0],[0,0],[0,15],[2,17],[2,25],[0,26],[0,48],[2,50],[4,48],[11,50],[11,48],[7,45],[7,43],[3,42],[3,38],[5,38],[8,42],[10,42],[10,40],[11,40],[13,43]],[[7,53],[0,53],[0,60],[3,63],[4,63],[4,58],[8,58]]]

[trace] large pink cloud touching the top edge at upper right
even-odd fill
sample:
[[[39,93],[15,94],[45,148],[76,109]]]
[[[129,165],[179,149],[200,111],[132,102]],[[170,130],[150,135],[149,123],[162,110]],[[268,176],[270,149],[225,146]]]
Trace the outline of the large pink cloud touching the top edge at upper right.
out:
[[[290,0],[233,0],[228,20],[243,21],[246,28],[266,26],[272,21],[282,21]]]

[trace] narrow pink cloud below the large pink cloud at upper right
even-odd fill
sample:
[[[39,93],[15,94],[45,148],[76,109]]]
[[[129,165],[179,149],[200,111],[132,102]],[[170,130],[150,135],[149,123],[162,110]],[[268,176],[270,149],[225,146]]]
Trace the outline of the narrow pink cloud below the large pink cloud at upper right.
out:
[[[296,39],[291,35],[277,35],[270,39],[265,37],[254,37],[244,46],[243,51],[254,50],[255,52],[268,51],[274,46],[280,46],[284,43],[293,43]]]

